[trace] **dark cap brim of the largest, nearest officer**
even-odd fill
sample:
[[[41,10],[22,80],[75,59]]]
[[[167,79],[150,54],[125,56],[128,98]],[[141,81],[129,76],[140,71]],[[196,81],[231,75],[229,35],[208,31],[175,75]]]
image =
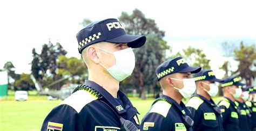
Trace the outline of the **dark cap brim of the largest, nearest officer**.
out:
[[[111,43],[127,43],[131,48],[138,48],[145,44],[146,37],[139,35],[123,35],[113,39],[105,40],[105,42]]]

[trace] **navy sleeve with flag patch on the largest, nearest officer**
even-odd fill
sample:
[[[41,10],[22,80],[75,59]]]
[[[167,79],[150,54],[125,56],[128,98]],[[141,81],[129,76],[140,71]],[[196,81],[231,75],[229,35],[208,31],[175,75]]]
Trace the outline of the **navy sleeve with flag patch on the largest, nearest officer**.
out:
[[[59,105],[52,109],[43,122],[41,131],[47,130],[75,131],[83,130],[83,126],[75,109],[68,105]]]

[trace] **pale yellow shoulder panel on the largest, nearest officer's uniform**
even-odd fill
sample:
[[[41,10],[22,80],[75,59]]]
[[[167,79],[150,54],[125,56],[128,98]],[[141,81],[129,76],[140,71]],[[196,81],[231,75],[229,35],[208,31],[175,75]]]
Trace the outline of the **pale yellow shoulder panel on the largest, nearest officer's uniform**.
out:
[[[69,105],[73,109],[75,109],[77,113],[79,113],[86,104],[89,104],[91,101],[97,100],[97,99],[98,99],[97,96],[91,94],[89,91],[79,90],[73,93],[72,95],[70,95],[64,101],[62,101],[60,105],[62,104]]]

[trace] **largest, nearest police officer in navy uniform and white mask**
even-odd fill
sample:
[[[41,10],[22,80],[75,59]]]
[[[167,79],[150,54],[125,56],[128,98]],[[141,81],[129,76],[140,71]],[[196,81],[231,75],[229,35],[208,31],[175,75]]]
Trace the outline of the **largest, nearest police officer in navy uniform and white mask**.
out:
[[[146,37],[127,35],[117,19],[105,19],[85,26],[77,33],[77,40],[89,80],[52,109],[41,130],[139,128],[138,111],[119,90],[119,82],[133,71],[135,57],[131,48],[143,46]]]

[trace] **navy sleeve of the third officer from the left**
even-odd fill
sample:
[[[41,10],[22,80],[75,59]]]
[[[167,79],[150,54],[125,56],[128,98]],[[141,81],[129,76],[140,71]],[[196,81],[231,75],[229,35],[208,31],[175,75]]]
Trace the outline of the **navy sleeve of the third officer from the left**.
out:
[[[193,107],[187,107],[188,110],[191,112],[192,119],[194,121],[193,130],[197,127],[198,123],[200,123],[202,112],[200,109],[194,109]]]

